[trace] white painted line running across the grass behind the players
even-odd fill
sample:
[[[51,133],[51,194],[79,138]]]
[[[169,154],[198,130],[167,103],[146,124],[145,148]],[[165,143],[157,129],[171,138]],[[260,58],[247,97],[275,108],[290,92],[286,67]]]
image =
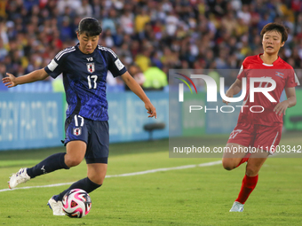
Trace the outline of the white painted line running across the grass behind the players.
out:
[[[201,163],[201,164],[196,164],[196,165],[180,166],[180,167],[175,167],[175,168],[155,168],[155,169],[149,169],[149,170],[145,170],[145,171],[133,172],[133,173],[122,174],[122,175],[106,175],[106,178],[131,176],[131,175],[147,175],[147,174],[153,174],[153,173],[157,173],[157,172],[170,171],[170,170],[178,170],[178,169],[185,169],[185,168],[211,167],[211,166],[219,165],[219,164],[221,164],[221,160],[211,161],[211,162],[206,162],[206,163]],[[68,185],[68,184],[72,184],[72,183],[74,183],[74,182],[69,182],[69,183],[54,183],[54,184],[41,185],[41,186],[28,186],[28,187],[21,187],[21,188],[15,188],[15,189],[3,189],[3,190],[0,190],[0,192],[3,192],[3,191],[14,191],[14,190],[19,190],[19,189],[50,188],[50,187],[58,187],[58,186],[62,186],[62,185]]]

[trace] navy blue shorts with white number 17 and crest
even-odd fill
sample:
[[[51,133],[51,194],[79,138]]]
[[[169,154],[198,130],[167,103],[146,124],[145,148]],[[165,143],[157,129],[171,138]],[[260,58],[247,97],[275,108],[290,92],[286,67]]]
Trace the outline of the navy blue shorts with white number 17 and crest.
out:
[[[85,160],[90,163],[106,163],[109,154],[108,121],[92,121],[73,114],[65,121],[66,138],[69,141],[82,140],[87,144]]]

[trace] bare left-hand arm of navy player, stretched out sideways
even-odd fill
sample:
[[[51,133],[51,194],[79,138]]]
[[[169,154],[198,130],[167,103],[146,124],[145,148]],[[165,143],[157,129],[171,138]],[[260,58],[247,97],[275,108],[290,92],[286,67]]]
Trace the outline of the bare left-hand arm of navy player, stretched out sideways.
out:
[[[8,77],[4,77],[2,79],[2,82],[4,82],[5,86],[7,86],[8,88],[12,88],[14,86],[25,84],[25,83],[44,80],[45,78],[48,77],[48,74],[45,72],[44,68],[33,71],[29,74],[20,77],[15,77],[10,73],[6,73],[6,75]]]

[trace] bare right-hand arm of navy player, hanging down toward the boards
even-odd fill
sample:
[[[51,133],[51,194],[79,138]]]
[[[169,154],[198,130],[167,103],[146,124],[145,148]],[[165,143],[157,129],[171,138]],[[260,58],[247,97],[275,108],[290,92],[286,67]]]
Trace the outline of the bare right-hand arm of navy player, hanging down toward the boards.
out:
[[[146,93],[143,89],[141,89],[138,82],[136,82],[131,74],[128,72],[125,72],[122,74],[121,78],[123,79],[123,82],[129,87],[129,89],[134,92],[144,103],[145,107],[147,109],[147,113],[149,114],[149,118],[155,117],[157,118],[155,106],[151,104],[150,99],[147,97]]]

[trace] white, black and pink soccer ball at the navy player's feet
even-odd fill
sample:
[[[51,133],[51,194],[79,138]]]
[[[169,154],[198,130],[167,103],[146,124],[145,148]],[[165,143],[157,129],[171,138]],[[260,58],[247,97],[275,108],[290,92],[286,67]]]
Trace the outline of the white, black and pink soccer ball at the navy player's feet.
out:
[[[63,199],[63,211],[69,217],[84,217],[91,211],[91,197],[82,189],[68,191]]]

